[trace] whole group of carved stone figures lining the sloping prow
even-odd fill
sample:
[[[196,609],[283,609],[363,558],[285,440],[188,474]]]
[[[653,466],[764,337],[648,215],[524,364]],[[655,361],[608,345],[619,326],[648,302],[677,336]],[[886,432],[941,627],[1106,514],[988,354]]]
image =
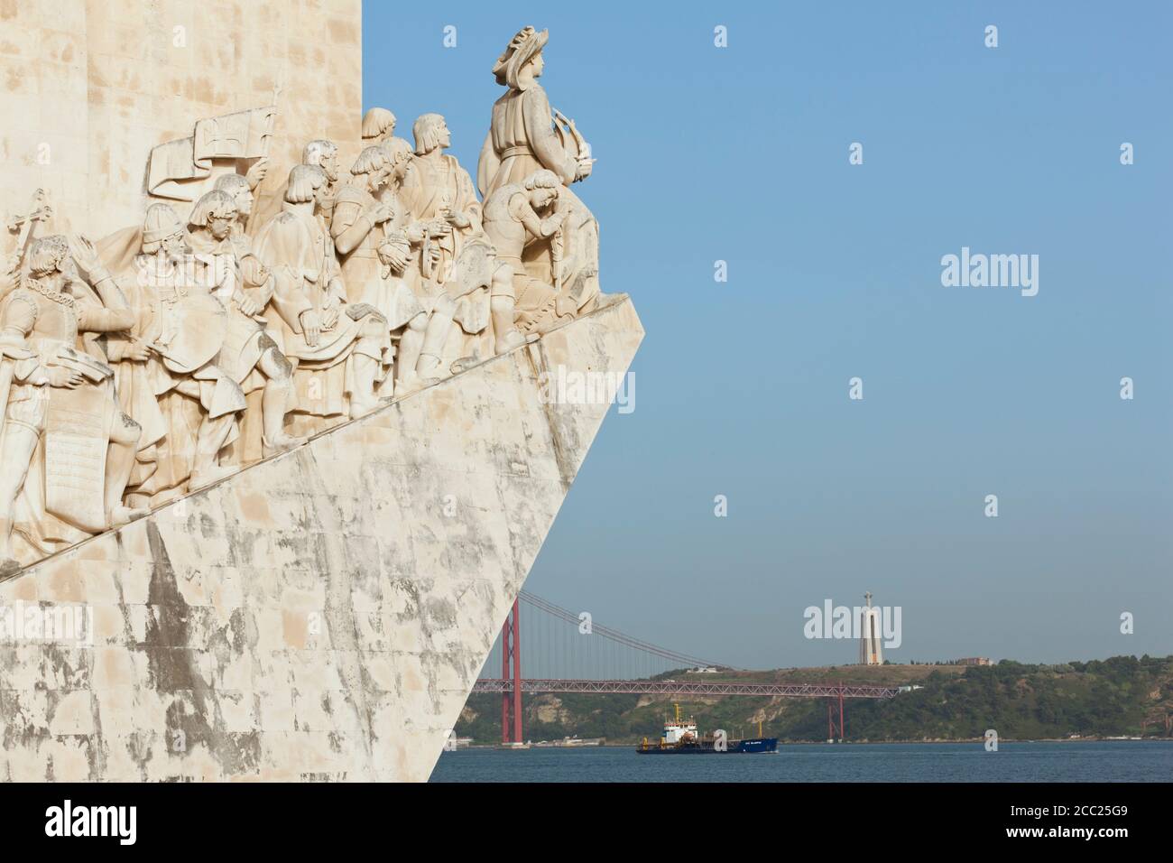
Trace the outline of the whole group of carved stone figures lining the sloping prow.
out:
[[[408,143],[372,108],[258,201],[274,104],[155,146],[142,223],[97,243],[38,193],[0,261],[0,578],[592,310],[595,160],[547,40],[493,66],[475,186],[443,116]]]

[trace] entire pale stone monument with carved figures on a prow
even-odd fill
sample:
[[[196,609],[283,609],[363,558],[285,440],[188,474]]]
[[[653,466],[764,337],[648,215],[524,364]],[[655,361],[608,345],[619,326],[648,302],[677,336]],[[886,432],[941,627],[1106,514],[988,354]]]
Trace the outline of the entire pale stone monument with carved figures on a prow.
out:
[[[0,780],[426,780],[639,345],[548,34],[481,200],[360,15],[0,11]]]

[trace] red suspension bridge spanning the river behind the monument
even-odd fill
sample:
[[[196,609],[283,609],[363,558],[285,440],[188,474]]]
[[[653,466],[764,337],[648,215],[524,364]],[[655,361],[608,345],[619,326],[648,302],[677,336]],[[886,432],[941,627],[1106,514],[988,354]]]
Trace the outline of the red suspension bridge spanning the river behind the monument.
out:
[[[521,604],[537,612],[527,625],[527,667],[537,665],[547,672],[538,677],[522,677]],[[569,628],[567,625],[570,625]],[[582,636],[590,636],[583,639]],[[531,646],[534,645],[534,646]],[[535,647],[536,646],[536,647]],[[522,591],[501,628],[486,668],[495,667],[501,654],[501,676],[481,677],[474,693],[501,694],[501,742],[521,743],[522,693],[598,693],[633,695],[720,696],[757,695],[786,699],[827,699],[828,739],[843,737],[845,699],[893,699],[897,689],[855,683],[743,683],[705,679],[731,666],[708,662],[689,654],[652,645],[618,629],[594,622],[586,613],[576,614],[549,600]],[[561,677],[548,672],[557,666],[575,668],[575,676]],[[625,672],[615,674],[615,670]],[[667,670],[689,669],[691,680],[665,680]],[[686,673],[689,673],[686,670]],[[635,676],[643,673],[645,676]],[[835,707],[838,704],[838,723]],[[836,734],[838,731],[838,734]]]

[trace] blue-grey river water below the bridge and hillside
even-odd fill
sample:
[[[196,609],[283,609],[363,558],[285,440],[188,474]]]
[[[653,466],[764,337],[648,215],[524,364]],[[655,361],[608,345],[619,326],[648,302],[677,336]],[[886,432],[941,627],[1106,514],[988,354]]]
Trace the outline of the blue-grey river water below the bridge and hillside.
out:
[[[1173,742],[845,743],[762,755],[637,755],[635,747],[460,749],[432,782],[1169,782]]]

